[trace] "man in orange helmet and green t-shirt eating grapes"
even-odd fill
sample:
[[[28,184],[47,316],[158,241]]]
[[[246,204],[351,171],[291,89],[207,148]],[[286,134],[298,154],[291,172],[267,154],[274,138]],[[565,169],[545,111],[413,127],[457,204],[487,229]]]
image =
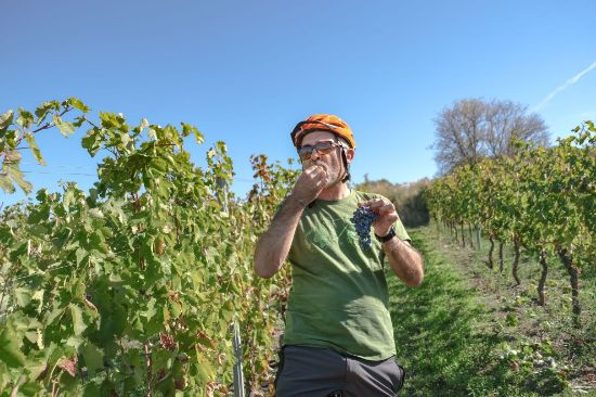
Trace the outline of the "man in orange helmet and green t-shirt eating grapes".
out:
[[[394,396],[404,372],[394,359],[384,259],[416,286],[422,257],[388,198],[348,187],[355,142],[345,121],[313,115],[290,137],[303,172],[255,251],[260,277],[286,258],[293,266],[277,396]],[[377,215],[368,247],[351,221],[359,206]]]

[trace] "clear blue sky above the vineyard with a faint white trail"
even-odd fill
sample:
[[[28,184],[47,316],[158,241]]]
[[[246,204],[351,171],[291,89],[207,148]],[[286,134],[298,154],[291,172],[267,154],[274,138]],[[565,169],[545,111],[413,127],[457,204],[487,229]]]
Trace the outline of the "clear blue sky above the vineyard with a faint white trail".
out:
[[[596,120],[594,14],[591,0],[4,0],[0,112],[77,97],[130,124],[191,123],[206,138],[193,159],[226,142],[241,196],[251,154],[285,163],[294,125],[334,113],[355,135],[355,182],[407,182],[435,175],[432,119],[456,100],[526,104],[554,138]],[[22,166],[36,190],[91,185],[83,135],[38,137],[48,166]]]

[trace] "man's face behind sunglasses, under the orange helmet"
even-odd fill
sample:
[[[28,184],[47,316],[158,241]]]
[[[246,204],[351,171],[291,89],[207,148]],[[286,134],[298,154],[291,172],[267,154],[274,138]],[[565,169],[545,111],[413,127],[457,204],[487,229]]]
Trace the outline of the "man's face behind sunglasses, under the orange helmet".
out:
[[[313,131],[308,133],[302,140],[303,145],[314,145],[319,142],[335,142],[335,135],[327,131]],[[348,152],[348,162],[351,162],[353,151],[350,149]],[[312,167],[313,165],[320,165],[327,171],[327,183],[325,188],[333,187],[339,182],[345,176],[344,161],[341,158],[341,148],[335,146],[327,154],[321,154],[316,150],[313,150],[311,157],[302,162],[302,169]]]

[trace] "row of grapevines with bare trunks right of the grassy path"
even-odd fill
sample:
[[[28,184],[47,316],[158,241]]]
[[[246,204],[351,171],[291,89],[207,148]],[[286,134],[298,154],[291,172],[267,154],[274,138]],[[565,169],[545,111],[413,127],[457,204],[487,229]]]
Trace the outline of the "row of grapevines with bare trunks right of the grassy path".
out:
[[[555,254],[570,277],[572,316],[580,323],[579,277],[596,256],[596,127],[585,121],[552,148],[517,142],[510,157],[488,158],[461,166],[437,179],[427,192],[432,217],[465,244],[464,223],[479,225],[491,242],[511,244],[516,282],[521,249],[540,258],[539,304],[545,305],[547,255]],[[470,239],[471,242],[471,239]],[[501,256],[501,255],[500,255]],[[500,270],[503,271],[501,257]]]

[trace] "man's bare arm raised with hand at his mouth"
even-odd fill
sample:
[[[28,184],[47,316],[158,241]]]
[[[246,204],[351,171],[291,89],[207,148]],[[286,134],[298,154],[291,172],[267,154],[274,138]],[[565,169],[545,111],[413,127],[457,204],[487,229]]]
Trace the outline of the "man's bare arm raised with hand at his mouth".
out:
[[[290,195],[257,242],[255,271],[258,276],[270,278],[282,268],[306,205],[319,195],[326,180],[327,172],[321,166],[312,166],[300,175]]]

